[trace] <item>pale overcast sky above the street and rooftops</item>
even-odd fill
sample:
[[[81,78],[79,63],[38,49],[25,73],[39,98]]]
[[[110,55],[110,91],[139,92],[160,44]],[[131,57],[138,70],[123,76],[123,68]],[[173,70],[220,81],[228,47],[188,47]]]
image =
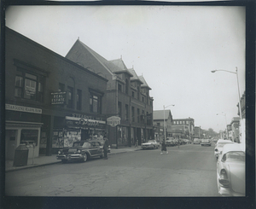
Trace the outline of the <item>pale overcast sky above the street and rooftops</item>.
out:
[[[11,6],[6,26],[65,56],[79,38],[122,57],[148,83],[154,110],[220,131],[245,91],[245,8],[221,6]],[[171,105],[175,105],[172,107]],[[218,115],[217,115],[218,114]]]

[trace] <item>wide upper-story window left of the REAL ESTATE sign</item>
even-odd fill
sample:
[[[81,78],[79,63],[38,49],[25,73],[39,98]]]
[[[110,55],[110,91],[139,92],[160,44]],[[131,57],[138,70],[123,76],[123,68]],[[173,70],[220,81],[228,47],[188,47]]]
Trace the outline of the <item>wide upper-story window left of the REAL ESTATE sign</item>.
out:
[[[18,70],[15,77],[15,96],[44,102],[44,77]]]

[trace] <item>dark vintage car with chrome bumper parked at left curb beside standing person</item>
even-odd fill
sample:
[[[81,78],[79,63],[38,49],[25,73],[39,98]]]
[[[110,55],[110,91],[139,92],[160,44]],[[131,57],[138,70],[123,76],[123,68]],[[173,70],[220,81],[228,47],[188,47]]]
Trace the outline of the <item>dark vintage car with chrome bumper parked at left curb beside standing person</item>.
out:
[[[81,160],[86,162],[93,157],[103,157],[103,149],[100,142],[78,141],[73,142],[70,148],[62,148],[58,151],[57,160],[67,163],[67,160]]]

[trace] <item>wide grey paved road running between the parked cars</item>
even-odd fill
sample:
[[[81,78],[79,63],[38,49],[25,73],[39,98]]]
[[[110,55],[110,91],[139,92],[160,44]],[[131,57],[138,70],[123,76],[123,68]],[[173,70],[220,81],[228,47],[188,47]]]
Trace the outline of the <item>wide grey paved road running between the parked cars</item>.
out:
[[[18,196],[218,196],[212,147],[183,145],[6,173]]]

